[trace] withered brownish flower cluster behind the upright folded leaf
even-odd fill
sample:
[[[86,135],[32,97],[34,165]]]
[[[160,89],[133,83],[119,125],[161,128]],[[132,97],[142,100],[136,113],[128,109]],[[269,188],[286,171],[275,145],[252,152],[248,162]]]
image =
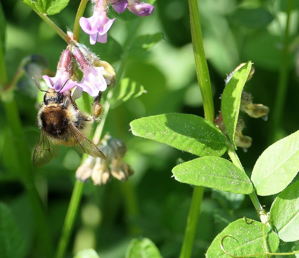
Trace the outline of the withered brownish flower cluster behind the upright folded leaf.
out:
[[[233,74],[238,71],[245,63],[240,64],[231,74],[228,75],[227,79],[225,80],[225,85],[231,80]],[[247,81],[251,79],[254,74],[254,67],[251,67],[251,71],[248,75]],[[254,104],[252,103],[252,96],[251,94],[247,93],[246,91],[242,91],[241,94],[241,103],[240,103],[240,110],[247,113],[250,117],[253,118],[262,118],[263,120],[267,120],[269,107],[264,106],[262,104]],[[219,116],[215,119],[216,125],[220,128],[220,130],[227,135],[225,124],[223,122],[222,113],[219,113]],[[235,132],[235,143],[237,147],[243,148],[244,152],[247,152],[247,149],[251,146],[252,138],[242,134],[243,129],[245,128],[245,123],[242,117],[239,115],[236,132]]]

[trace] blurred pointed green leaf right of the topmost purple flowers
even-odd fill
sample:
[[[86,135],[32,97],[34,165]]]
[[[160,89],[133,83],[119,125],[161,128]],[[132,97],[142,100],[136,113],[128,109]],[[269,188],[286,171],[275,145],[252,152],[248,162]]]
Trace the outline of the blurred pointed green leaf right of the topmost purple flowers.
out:
[[[129,50],[129,54],[135,57],[136,55],[152,48],[161,39],[163,39],[162,33],[138,36],[134,39],[132,46]]]

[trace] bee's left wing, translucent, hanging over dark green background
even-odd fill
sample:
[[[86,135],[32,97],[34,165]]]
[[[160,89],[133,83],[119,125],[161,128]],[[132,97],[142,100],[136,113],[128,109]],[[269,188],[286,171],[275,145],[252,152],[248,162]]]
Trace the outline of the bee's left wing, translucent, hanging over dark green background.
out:
[[[55,145],[45,134],[42,129],[39,134],[39,140],[33,152],[34,167],[41,167],[51,161],[52,158],[59,154],[59,147]]]

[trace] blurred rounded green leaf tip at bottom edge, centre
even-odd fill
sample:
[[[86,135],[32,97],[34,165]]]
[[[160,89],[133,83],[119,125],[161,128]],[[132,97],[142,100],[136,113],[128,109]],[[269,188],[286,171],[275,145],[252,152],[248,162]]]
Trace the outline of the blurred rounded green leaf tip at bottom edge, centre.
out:
[[[162,258],[158,248],[148,238],[132,239],[126,251],[126,258]]]

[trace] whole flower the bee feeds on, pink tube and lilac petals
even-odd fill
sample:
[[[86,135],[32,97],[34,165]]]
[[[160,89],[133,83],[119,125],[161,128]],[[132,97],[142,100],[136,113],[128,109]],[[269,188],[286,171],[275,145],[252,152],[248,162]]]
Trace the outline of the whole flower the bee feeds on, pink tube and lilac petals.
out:
[[[76,86],[77,81],[73,81],[70,78],[72,68],[72,53],[70,50],[66,49],[61,54],[55,77],[49,77],[47,75],[43,76],[47,86],[60,92],[68,91]]]

